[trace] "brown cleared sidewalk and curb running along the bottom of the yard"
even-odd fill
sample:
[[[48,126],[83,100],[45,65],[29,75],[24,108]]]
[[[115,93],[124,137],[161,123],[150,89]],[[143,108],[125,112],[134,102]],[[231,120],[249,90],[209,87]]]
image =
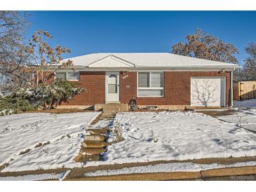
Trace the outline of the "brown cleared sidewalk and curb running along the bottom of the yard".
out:
[[[256,180],[256,165],[246,167],[224,167],[220,169],[210,169],[202,171],[187,171],[187,172],[148,172],[148,173],[135,173],[135,174],[116,174],[100,177],[86,177],[85,174],[89,172],[96,172],[99,170],[121,170],[123,168],[129,169],[133,167],[146,167],[149,165],[159,165],[167,163],[198,163],[201,165],[209,165],[211,163],[218,163],[221,165],[229,165],[232,163],[244,163],[256,161],[256,157],[246,158],[208,158],[199,160],[168,160],[168,161],[154,161],[148,163],[128,163],[119,165],[100,165],[95,167],[78,167],[74,169],[56,169],[56,170],[36,170],[25,172],[0,172],[1,177],[19,177],[19,176],[40,176],[43,174],[65,174],[70,170],[69,174],[64,180],[78,180],[78,181],[110,181],[110,180]],[[230,177],[234,176],[234,177]],[[245,177],[237,177],[245,176]],[[248,176],[248,177],[247,177]],[[250,176],[250,177],[249,177]],[[39,177],[40,178],[40,177]],[[42,177],[41,177],[42,178]],[[57,177],[58,178],[58,177]],[[48,179],[48,180],[58,180]]]

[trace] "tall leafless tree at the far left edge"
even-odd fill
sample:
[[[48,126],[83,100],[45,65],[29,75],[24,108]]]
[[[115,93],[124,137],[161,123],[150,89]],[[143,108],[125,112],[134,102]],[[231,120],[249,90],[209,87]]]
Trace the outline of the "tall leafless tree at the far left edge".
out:
[[[11,89],[29,81],[32,50],[25,43],[27,15],[18,11],[0,11],[0,84]]]

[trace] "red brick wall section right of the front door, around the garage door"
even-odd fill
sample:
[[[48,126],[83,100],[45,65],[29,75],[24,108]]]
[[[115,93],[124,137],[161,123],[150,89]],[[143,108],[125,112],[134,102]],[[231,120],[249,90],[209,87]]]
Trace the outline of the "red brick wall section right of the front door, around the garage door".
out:
[[[226,76],[226,102],[230,106],[231,73],[218,71],[166,71],[163,97],[137,97],[137,73],[120,75],[120,102],[128,103],[133,97],[139,105],[190,105],[190,79],[195,76]]]

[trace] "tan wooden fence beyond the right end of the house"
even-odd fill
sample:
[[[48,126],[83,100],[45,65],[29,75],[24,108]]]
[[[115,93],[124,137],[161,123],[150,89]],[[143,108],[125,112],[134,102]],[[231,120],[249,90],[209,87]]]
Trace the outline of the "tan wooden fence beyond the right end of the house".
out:
[[[234,83],[234,100],[244,101],[256,98],[256,81],[239,81]]]

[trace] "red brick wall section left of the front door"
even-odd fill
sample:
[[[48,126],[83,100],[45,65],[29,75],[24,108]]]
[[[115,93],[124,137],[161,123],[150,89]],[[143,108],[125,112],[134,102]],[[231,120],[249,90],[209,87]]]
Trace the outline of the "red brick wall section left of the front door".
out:
[[[92,105],[105,103],[105,72],[80,71],[79,87],[86,90],[60,105]],[[75,82],[75,81],[74,81]]]

